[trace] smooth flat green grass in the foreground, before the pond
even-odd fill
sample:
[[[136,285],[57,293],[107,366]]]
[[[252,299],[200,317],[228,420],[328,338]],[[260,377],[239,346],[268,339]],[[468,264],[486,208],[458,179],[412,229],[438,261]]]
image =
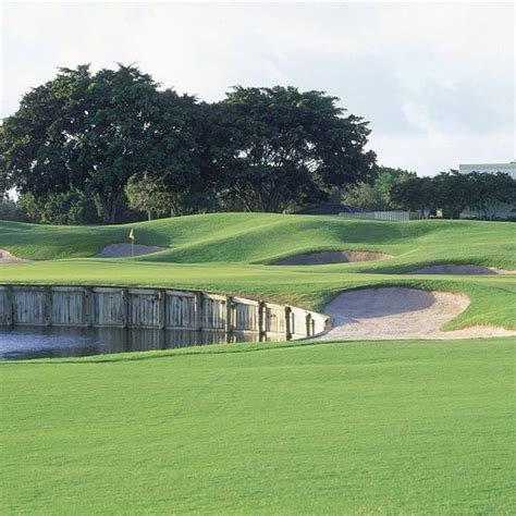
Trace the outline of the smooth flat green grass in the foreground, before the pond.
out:
[[[514,514],[509,340],[286,346],[0,365],[0,511]]]

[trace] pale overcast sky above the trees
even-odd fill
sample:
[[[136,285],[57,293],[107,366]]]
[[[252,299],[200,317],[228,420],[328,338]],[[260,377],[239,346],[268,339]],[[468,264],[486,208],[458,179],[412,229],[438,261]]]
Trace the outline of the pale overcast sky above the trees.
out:
[[[137,63],[205,100],[325,90],[390,167],[516,157],[513,3],[3,3],[1,19],[1,116],[58,66]]]

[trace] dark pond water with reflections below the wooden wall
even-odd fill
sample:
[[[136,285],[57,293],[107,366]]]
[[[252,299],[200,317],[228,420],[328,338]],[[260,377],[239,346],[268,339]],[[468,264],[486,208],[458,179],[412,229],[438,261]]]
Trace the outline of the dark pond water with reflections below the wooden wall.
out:
[[[226,336],[224,332],[194,330],[0,327],[0,360],[82,357],[256,341],[258,335],[254,332]]]

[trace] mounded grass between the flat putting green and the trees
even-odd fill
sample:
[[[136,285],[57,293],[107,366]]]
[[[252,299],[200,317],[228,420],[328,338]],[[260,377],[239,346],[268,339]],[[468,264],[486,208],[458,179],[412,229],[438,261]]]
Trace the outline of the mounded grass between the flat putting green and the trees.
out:
[[[24,258],[87,257],[112,242],[170,246],[138,258],[170,262],[269,263],[320,249],[381,250],[394,261],[352,266],[358,270],[407,269],[434,261],[516,269],[516,224],[475,221],[409,223],[273,213],[213,213],[118,226],[45,226],[0,222],[0,245]]]

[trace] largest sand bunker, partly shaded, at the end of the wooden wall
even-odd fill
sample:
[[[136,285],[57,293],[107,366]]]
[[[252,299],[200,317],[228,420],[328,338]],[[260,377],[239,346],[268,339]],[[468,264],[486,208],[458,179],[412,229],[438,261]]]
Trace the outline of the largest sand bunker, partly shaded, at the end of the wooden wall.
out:
[[[466,339],[509,336],[516,331],[472,327],[442,332],[440,328],[469,305],[463,294],[384,287],[344,292],[324,309],[332,328],[316,340]]]

